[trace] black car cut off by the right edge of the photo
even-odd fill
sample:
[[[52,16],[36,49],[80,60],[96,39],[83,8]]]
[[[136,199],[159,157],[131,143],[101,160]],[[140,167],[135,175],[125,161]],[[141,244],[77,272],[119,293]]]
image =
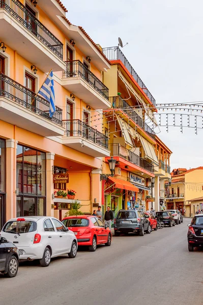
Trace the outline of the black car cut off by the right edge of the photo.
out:
[[[203,246],[203,214],[195,215],[188,227],[188,250],[191,252],[194,247]]]

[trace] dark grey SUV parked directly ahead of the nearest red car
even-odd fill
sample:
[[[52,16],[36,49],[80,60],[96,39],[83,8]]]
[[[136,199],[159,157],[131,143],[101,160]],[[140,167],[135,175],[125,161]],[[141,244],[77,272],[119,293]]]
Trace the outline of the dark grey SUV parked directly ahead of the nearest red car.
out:
[[[138,232],[140,236],[144,232],[151,233],[151,226],[146,215],[137,210],[119,210],[114,219],[114,235],[119,236],[120,233]]]

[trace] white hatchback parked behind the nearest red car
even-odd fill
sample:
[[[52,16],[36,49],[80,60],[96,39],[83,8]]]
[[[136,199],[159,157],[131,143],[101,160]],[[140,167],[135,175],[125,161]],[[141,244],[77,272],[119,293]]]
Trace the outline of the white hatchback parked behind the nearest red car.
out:
[[[10,219],[3,227],[1,236],[12,241],[19,251],[20,259],[39,259],[46,267],[51,258],[77,254],[77,238],[54,217],[31,216]]]

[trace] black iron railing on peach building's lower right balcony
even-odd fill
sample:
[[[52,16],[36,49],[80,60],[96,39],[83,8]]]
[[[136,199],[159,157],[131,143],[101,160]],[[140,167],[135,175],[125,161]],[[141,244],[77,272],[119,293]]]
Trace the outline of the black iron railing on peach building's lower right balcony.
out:
[[[65,135],[67,137],[82,136],[83,138],[108,149],[108,137],[80,119],[63,120],[63,127],[66,130]]]

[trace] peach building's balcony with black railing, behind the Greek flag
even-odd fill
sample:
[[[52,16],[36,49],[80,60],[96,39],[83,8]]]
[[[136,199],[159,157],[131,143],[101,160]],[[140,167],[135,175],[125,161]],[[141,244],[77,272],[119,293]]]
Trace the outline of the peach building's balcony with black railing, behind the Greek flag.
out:
[[[0,120],[44,137],[64,134],[62,109],[49,116],[49,102],[0,73]]]

